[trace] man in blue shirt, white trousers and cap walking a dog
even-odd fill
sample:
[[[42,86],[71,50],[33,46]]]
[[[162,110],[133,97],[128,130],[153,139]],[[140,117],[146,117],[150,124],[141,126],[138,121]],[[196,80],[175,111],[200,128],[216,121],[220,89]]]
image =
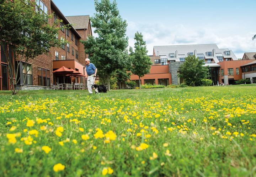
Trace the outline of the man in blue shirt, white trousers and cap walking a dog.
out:
[[[92,85],[94,84],[94,80],[96,77],[97,73],[97,68],[95,67],[94,64],[90,63],[90,59],[86,58],[85,59],[85,68],[86,68],[86,73],[87,73],[87,87],[89,94],[92,94]]]

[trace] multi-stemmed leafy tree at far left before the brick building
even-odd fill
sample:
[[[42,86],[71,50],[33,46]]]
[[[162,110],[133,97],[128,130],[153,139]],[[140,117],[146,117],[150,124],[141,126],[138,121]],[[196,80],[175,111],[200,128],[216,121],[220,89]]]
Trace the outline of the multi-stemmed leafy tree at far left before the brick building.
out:
[[[50,47],[60,47],[66,42],[56,38],[60,28],[47,23],[52,16],[37,13],[35,5],[28,0],[0,0],[0,45],[8,63],[12,95],[23,86],[16,89],[21,62],[33,63],[35,57],[48,53]],[[25,82],[26,76],[24,79]]]

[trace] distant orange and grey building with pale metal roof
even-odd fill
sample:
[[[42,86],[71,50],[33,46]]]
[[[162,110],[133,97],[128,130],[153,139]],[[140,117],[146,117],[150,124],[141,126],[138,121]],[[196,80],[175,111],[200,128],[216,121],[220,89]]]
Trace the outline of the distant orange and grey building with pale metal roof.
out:
[[[209,79],[213,81],[213,85],[231,85],[242,78],[250,78],[251,83],[255,83],[256,61],[252,53],[245,53],[243,59],[238,60],[232,50],[220,49],[216,44],[154,46],[153,56],[150,56],[153,65],[150,73],[141,78],[141,84],[182,83],[183,79],[178,77],[179,67],[189,55],[195,55],[204,61],[205,66],[209,66]],[[137,86],[138,78],[137,75],[131,76]]]

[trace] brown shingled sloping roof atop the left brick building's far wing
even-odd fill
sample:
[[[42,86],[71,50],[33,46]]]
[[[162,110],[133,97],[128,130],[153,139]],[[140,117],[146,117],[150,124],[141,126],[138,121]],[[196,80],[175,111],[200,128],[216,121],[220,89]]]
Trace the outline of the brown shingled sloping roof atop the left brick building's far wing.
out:
[[[75,29],[87,29],[90,16],[81,15],[81,16],[66,16],[68,21],[73,25]]]

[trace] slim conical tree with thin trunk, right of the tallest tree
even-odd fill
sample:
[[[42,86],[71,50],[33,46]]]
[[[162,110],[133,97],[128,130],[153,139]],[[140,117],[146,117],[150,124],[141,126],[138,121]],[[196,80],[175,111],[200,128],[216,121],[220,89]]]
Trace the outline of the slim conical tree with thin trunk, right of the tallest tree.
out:
[[[147,55],[148,50],[146,50],[146,42],[143,40],[142,33],[136,32],[134,39],[136,40],[134,44],[134,52],[132,47],[129,48],[130,59],[132,61],[131,72],[139,76],[140,88],[140,78],[150,72],[150,68],[153,63]]]

